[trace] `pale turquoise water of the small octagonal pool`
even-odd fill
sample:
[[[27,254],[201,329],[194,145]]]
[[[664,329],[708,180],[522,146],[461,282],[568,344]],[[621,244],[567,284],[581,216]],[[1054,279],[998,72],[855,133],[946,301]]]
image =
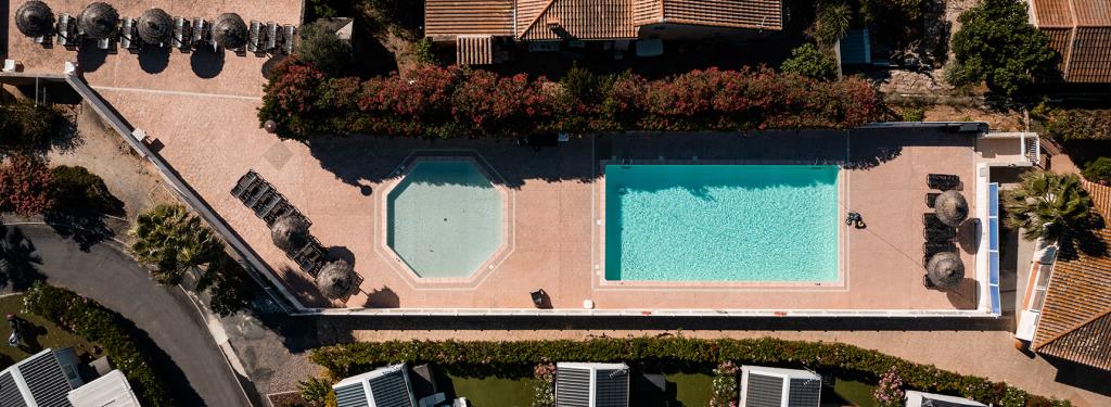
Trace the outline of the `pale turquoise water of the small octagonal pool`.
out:
[[[463,278],[501,246],[503,202],[471,161],[420,161],[387,196],[387,244],[423,278]]]

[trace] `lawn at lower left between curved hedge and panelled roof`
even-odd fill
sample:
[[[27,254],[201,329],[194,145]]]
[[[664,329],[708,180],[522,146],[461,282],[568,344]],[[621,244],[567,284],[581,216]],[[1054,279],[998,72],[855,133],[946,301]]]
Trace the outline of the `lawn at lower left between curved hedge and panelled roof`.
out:
[[[54,328],[53,322],[31,314],[22,314],[23,296],[14,295],[0,297],[0,314],[16,314],[23,320],[23,341],[20,347],[8,346],[8,335],[11,330],[2,328],[3,341],[0,345],[0,369],[11,366],[16,361],[23,360],[28,356],[39,353],[46,348],[73,347],[78,355],[92,353],[92,345],[83,338]]]

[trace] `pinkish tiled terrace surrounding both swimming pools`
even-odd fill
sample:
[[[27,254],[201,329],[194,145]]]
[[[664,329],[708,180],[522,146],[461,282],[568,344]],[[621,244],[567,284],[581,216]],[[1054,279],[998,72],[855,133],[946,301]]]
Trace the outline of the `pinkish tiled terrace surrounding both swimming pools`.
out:
[[[12,2],[17,3],[17,2]],[[66,6],[58,6],[61,3]],[[77,2],[51,3],[56,12],[79,12]],[[121,14],[164,7],[171,14],[214,16],[238,11],[244,19],[296,21],[299,1],[116,1]],[[70,6],[72,4],[72,6]],[[186,9],[182,9],[186,8]],[[14,9],[14,6],[11,7]],[[10,12],[9,12],[10,13]],[[9,28],[10,58],[26,72],[61,71],[74,54],[42,49]],[[194,71],[190,54],[171,51],[169,63],[150,72],[137,57],[121,52],[82,63],[88,82],[130,122],[161,143],[159,153],[252,249],[302,302],[328,306],[311,277],[297,270],[270,241],[266,224],[229,193],[238,178],[254,169],[312,220],[312,232],[332,255],[352,256],[364,277],[351,308],[530,309],[529,291],[543,288],[552,306],[580,309],[592,299],[598,309],[892,309],[952,310],[977,306],[974,238],[962,229],[961,256],[967,278],[949,291],[922,287],[922,222],[928,209],[925,176],[954,173],[975,204],[977,156],[971,135],[922,129],[870,129],[849,132],[772,132],[737,135],[599,136],[559,148],[532,151],[512,141],[396,140],[370,137],[280,141],[259,129],[263,59],[228,52],[221,70],[207,78]],[[398,267],[376,232],[383,208],[379,195],[398,165],[416,150],[477,152],[504,179],[512,196],[512,250],[478,281],[419,281]],[[825,287],[737,288],[724,286],[600,287],[594,265],[603,230],[595,225],[601,200],[602,160],[688,160],[702,162],[828,162],[845,165],[841,209],[863,215],[867,229],[842,231],[842,284]],[[972,208],[975,214],[975,208]]]

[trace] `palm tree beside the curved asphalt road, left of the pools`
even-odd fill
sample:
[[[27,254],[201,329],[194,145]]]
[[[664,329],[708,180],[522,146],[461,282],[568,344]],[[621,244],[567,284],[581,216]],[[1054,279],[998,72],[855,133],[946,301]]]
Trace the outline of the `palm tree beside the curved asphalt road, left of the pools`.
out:
[[[223,241],[180,205],[159,205],[140,214],[128,234],[133,239],[131,255],[151,267],[162,284],[177,284],[186,270],[223,255]]]

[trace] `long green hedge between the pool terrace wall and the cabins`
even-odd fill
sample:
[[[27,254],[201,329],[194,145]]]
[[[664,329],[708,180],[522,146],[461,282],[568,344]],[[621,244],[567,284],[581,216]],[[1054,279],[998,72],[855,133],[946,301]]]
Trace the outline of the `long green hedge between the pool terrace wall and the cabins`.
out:
[[[585,341],[386,341],[346,344],[312,351],[312,361],[336,377],[391,363],[433,363],[464,369],[531,373],[551,361],[624,361],[705,368],[723,361],[807,367],[862,375],[873,380],[894,368],[908,388],[961,395],[999,405],[1019,391],[1027,406],[1070,406],[1067,400],[1027,395],[1004,383],[963,376],[844,344],[761,339],[622,338]],[[1009,395],[1009,393],[1011,395]],[[1011,405],[1014,405],[1011,403]],[[1019,405],[1021,406],[1021,404]]]

